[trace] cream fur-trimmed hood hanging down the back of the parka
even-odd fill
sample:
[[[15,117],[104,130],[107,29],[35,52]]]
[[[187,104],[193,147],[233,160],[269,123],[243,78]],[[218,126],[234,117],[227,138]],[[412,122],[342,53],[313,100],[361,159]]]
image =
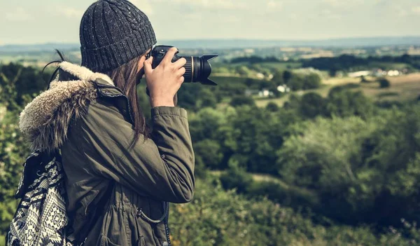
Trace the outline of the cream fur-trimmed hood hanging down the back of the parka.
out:
[[[54,151],[63,144],[71,118],[78,118],[87,104],[97,98],[92,82],[98,78],[114,86],[106,74],[94,73],[70,62],[59,64],[59,75],[50,83],[50,88],[20,113],[19,128],[33,151]]]

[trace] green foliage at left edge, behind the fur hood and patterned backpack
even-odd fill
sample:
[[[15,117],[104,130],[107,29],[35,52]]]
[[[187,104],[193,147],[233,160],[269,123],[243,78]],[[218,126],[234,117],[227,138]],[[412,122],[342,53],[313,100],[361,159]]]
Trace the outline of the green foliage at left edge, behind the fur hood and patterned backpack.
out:
[[[0,68],[0,233],[10,225],[18,205],[14,198],[29,146],[20,134],[20,111],[43,86],[32,68],[9,64]]]

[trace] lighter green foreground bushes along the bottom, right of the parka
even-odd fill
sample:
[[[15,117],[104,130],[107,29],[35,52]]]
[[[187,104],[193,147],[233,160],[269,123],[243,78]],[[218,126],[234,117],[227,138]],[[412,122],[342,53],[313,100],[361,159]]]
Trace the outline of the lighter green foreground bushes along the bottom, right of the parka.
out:
[[[302,214],[267,198],[245,198],[234,190],[224,191],[217,179],[197,180],[192,203],[171,206],[172,245],[388,245],[420,243],[419,230],[409,224],[405,230],[375,236],[367,226],[314,224]],[[406,233],[402,236],[402,233]]]

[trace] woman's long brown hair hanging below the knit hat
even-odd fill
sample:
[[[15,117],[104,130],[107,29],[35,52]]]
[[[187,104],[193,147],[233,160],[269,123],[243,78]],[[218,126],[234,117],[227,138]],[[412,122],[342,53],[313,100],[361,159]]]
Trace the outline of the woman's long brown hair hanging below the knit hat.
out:
[[[141,79],[141,73],[137,71],[141,56],[134,58],[116,69],[105,72],[112,79],[114,85],[123,90],[123,93],[127,96],[131,104],[134,121],[134,139],[129,149],[137,144],[141,135],[144,135],[145,140],[150,135],[146,118],[144,118],[143,110],[139,105],[136,89],[137,81]]]

